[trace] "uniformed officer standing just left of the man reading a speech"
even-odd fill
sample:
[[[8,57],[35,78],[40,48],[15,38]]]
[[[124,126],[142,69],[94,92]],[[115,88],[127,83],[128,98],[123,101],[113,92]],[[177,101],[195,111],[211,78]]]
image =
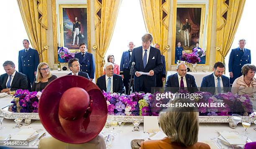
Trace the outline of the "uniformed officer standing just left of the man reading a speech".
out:
[[[128,94],[128,90],[129,90],[129,80],[131,79],[129,62],[131,59],[131,54],[133,52],[134,46],[135,45],[133,42],[129,42],[129,45],[128,45],[129,50],[124,51],[121,57],[120,75],[123,78],[123,85],[125,86],[125,94]],[[133,91],[134,91],[134,87],[133,87]]]

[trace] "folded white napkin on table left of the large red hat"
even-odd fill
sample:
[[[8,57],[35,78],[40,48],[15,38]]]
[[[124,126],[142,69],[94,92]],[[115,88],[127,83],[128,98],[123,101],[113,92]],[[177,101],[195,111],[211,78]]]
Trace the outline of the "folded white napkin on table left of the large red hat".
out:
[[[21,129],[17,134],[11,137],[11,140],[28,141],[38,136],[35,129]]]

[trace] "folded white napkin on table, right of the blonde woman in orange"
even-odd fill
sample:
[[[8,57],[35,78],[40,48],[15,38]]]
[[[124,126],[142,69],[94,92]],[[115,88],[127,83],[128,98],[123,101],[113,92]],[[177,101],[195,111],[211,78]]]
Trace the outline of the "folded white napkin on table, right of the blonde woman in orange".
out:
[[[223,143],[225,144],[232,144],[232,145],[245,145],[247,137],[240,136],[235,134],[234,132],[220,132],[220,137],[218,137]]]

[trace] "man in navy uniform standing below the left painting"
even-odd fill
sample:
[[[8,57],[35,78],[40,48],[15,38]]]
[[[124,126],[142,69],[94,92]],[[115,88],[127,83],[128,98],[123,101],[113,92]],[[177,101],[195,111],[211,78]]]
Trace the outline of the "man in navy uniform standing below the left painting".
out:
[[[87,52],[87,45],[85,43],[81,43],[79,47],[81,52],[76,53],[74,57],[79,60],[80,71],[86,72],[92,81],[95,74],[95,62],[93,55]]]

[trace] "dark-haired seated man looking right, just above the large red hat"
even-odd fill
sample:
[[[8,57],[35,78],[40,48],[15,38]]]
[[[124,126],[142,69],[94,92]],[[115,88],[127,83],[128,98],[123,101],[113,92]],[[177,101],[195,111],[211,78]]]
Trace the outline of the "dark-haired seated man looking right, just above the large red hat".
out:
[[[86,79],[90,79],[86,72],[80,72],[80,64],[77,58],[72,58],[68,62],[69,69],[72,71],[68,75],[79,75],[85,77]]]

